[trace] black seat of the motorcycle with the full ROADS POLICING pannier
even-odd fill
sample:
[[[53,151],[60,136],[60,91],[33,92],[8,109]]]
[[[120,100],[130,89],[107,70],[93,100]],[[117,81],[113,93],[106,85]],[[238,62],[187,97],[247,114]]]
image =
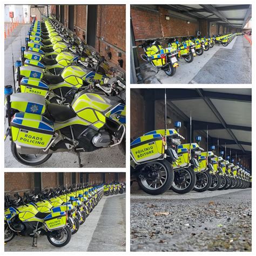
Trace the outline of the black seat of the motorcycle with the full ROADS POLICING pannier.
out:
[[[47,111],[51,118],[57,122],[65,122],[66,120],[76,117],[76,113],[73,111],[70,105],[49,103],[47,105]]]

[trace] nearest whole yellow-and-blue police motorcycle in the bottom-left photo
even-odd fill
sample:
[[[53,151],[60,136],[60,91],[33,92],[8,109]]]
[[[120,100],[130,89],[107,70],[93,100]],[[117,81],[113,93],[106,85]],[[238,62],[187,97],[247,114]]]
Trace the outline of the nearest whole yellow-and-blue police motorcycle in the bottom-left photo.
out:
[[[66,212],[53,207],[50,212],[39,212],[24,198],[16,193],[13,200],[10,194],[4,198],[4,242],[9,242],[15,235],[32,237],[32,246],[37,247],[37,238],[46,235],[51,245],[63,247],[69,244],[71,231],[67,225]]]

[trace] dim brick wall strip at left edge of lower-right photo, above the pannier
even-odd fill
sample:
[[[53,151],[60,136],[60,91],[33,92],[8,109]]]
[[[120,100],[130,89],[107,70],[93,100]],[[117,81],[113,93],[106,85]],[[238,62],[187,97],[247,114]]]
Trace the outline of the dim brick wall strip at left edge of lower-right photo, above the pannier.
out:
[[[142,95],[139,94],[139,89],[131,91],[131,138],[142,136],[145,133],[145,102]]]

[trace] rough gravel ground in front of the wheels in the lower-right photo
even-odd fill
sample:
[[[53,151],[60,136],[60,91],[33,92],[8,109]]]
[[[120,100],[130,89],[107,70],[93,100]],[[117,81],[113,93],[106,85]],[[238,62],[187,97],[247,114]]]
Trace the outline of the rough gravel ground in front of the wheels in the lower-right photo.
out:
[[[131,199],[131,251],[251,251],[251,208],[251,188],[204,199]]]

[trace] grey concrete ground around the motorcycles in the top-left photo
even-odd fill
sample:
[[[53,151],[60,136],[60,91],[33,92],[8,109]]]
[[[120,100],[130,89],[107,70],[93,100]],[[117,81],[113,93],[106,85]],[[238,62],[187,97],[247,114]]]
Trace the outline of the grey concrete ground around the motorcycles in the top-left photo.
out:
[[[21,45],[25,45],[25,36],[28,33],[30,24],[19,24],[17,28],[4,41],[4,84],[13,85],[12,57],[14,62],[21,57]],[[5,120],[6,122],[6,120]],[[6,126],[6,124],[5,124]],[[18,168],[29,167],[22,165],[12,156],[10,141],[6,139],[4,144],[5,167]],[[81,153],[83,167],[119,167],[125,168],[125,156],[120,152],[118,146],[99,149],[95,152]],[[69,152],[55,153],[46,163],[37,167],[78,167],[78,159],[75,154]]]

